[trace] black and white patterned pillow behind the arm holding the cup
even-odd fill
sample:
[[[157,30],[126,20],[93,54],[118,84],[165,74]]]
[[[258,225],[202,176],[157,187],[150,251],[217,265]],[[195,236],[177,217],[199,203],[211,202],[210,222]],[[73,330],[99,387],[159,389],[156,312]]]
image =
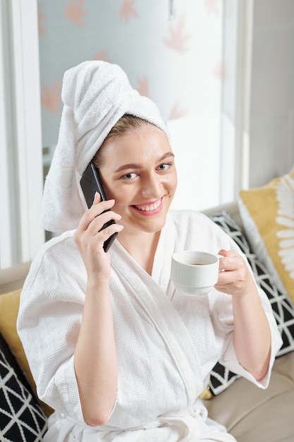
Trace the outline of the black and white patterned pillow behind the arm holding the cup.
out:
[[[278,290],[267,269],[264,268],[262,263],[259,263],[255,253],[252,253],[250,245],[240,227],[226,210],[215,213],[210,218],[219,225],[238,244],[243,253],[245,253],[257,284],[262,287],[269,298],[278,330],[283,339],[283,345],[281,349],[278,350],[276,356],[279,357],[288,352],[292,352],[294,350],[294,306],[290,297],[286,292],[282,293]],[[223,390],[226,390],[238,377],[240,376],[232,373],[218,362],[214,366],[214,369],[212,369],[209,389],[214,395],[218,395]]]

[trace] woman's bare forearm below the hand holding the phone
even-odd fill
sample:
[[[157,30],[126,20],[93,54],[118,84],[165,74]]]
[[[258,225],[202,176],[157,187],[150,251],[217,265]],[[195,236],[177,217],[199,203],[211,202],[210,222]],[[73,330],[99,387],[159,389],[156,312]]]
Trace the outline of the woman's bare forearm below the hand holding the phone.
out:
[[[100,280],[99,284],[88,282],[74,357],[85,422],[103,425],[114,407],[117,391],[116,346],[107,280]]]

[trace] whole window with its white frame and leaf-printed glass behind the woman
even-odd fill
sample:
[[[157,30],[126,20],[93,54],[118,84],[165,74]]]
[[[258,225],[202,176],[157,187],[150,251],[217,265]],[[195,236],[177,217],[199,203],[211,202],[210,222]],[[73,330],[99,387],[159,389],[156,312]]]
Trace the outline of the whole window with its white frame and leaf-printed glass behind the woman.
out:
[[[42,167],[45,175],[58,138],[62,76],[87,59],[121,65],[168,121],[180,181],[174,208],[233,200],[245,177],[241,3],[2,1],[1,267],[32,258],[44,241]]]

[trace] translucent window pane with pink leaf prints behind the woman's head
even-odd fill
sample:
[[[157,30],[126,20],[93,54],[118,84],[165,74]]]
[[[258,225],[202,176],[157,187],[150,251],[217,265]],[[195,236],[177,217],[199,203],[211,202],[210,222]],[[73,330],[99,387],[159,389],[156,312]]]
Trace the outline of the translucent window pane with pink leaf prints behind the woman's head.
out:
[[[157,103],[168,121],[179,176],[173,207],[216,205],[220,198],[222,35],[219,0],[148,4],[137,0],[132,6],[127,1],[102,4],[92,0],[80,2],[79,7],[70,1],[40,1],[46,150],[52,150],[58,138],[64,71],[87,59],[112,61],[122,66],[134,88]],[[192,201],[191,189],[195,189]]]

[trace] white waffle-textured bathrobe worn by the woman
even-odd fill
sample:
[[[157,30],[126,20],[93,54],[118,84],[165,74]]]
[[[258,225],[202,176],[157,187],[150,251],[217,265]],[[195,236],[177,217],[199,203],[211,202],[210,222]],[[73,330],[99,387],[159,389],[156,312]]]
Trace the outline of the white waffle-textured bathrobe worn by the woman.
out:
[[[44,441],[235,441],[207,417],[197,397],[218,360],[266,388],[281,338],[259,289],[271,327],[271,362],[267,376],[255,381],[235,357],[231,296],[212,289],[186,297],[173,288],[171,254],[183,249],[218,253],[238,246],[201,213],[171,211],[151,276],[118,241],[111,247],[118,391],[108,422],[99,427],[83,420],[73,364],[87,282],[73,232],[52,239],[36,256],[21,295],[18,333],[39,398],[56,410]]]

